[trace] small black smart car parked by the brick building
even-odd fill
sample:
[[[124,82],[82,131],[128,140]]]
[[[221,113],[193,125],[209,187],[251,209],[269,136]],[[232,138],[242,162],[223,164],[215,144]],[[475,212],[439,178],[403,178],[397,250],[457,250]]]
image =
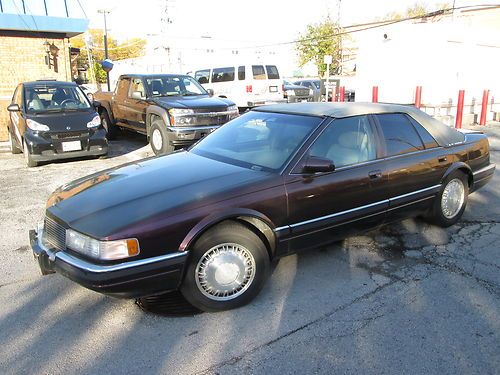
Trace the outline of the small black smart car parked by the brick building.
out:
[[[12,153],[23,152],[28,167],[54,159],[106,155],[106,131],[97,106],[72,82],[19,84],[7,107]]]

